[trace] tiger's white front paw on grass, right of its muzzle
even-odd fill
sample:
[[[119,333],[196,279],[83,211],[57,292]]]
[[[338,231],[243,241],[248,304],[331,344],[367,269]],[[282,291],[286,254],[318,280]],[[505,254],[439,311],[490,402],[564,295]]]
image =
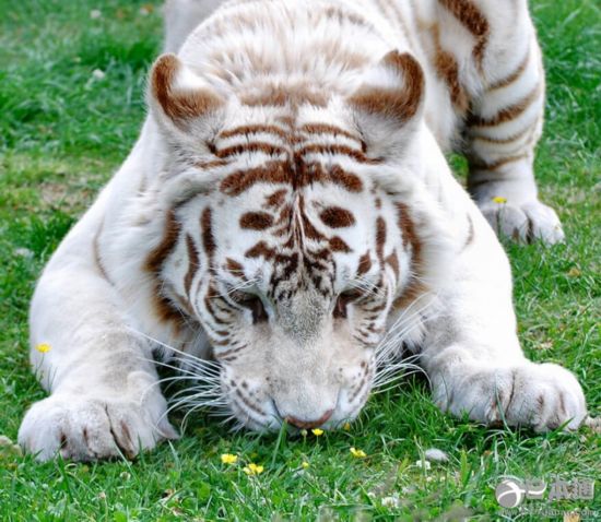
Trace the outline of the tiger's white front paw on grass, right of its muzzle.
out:
[[[582,388],[565,368],[527,361],[523,365],[467,373],[451,390],[438,393],[438,404],[473,420],[527,426],[547,431],[565,425],[577,429],[587,417]]]

